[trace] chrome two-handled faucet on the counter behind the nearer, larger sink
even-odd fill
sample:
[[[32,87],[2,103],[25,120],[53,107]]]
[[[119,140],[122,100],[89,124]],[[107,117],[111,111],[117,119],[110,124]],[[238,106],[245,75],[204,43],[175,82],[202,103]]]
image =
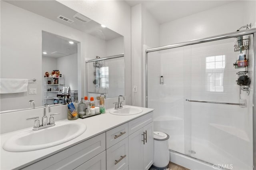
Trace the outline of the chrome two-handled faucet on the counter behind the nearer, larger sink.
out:
[[[51,107],[48,104],[44,104],[44,113],[43,113],[43,117],[42,117],[42,125],[40,125],[40,121],[39,121],[39,117],[32,117],[32,118],[28,118],[27,120],[33,120],[36,119],[34,121],[34,127],[33,130],[40,130],[43,128],[48,128],[48,127],[53,127],[55,125],[54,122],[54,117],[53,115],[58,115],[60,113],[54,113],[50,115],[50,119],[49,119],[49,123],[48,123],[48,118],[46,116],[47,113],[47,108],[48,108],[48,112],[51,112]]]

